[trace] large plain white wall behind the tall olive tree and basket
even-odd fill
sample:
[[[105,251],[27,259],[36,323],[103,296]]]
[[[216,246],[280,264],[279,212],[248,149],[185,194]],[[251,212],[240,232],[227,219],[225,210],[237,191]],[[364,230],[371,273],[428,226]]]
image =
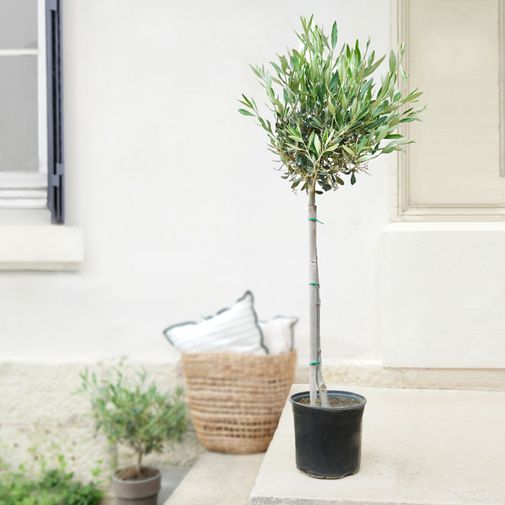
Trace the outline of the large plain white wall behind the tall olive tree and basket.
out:
[[[306,199],[237,112],[259,96],[249,63],[296,44],[300,14],[390,44],[389,0],[64,2],[68,224],[78,273],[1,273],[1,358],[169,360],[161,330],[246,289],[261,318],[301,317]],[[320,200],[322,332],[334,361],[380,350],[377,251],[392,158]]]

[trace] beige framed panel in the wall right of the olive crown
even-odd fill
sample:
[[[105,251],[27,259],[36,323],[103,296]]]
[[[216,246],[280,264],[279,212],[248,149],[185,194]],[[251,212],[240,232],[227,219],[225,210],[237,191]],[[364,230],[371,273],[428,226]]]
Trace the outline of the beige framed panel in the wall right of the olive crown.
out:
[[[505,218],[505,0],[398,0],[424,121],[399,156],[404,220]]]

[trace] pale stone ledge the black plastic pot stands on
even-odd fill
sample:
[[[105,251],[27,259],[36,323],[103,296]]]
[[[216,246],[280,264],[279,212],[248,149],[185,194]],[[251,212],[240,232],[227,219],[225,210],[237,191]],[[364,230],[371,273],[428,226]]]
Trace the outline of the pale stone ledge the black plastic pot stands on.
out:
[[[287,404],[251,505],[505,505],[505,393],[331,389],[367,397],[360,473],[325,481],[299,472]]]

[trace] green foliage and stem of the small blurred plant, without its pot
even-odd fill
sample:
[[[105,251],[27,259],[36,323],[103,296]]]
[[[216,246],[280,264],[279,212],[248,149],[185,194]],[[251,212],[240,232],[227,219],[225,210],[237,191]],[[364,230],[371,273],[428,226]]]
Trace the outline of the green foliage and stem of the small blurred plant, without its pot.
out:
[[[179,441],[186,432],[182,390],[160,392],[154,383],[148,383],[143,370],[125,373],[120,364],[98,377],[86,369],[81,373],[80,392],[90,397],[97,431],[111,446],[124,445],[136,455],[133,474],[119,472],[120,478],[140,477],[144,456],[161,453],[165,443]]]

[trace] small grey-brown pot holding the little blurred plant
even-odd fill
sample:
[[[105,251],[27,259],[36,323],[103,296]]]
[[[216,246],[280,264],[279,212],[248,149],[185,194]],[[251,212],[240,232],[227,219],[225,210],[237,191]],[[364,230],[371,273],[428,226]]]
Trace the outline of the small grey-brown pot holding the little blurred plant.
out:
[[[156,505],[161,488],[160,471],[153,467],[122,468],[112,477],[116,505]]]

